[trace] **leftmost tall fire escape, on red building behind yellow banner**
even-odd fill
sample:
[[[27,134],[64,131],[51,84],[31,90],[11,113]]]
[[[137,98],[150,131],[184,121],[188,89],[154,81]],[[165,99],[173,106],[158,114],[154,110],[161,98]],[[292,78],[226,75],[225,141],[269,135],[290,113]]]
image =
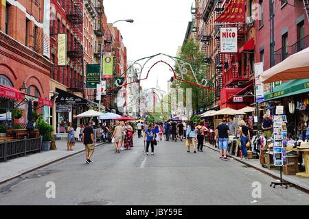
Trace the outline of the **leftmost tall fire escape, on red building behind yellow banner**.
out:
[[[71,22],[71,37],[68,38],[67,42],[67,56],[71,58],[74,66],[74,70],[78,71],[78,67],[82,71],[80,79],[74,78],[71,80],[70,89],[73,92],[82,92],[84,90],[84,75],[83,75],[83,56],[84,50],[82,47],[82,24],[83,24],[83,13],[82,13],[82,1],[71,0],[67,4],[67,18]],[[77,73],[78,75],[78,73]]]

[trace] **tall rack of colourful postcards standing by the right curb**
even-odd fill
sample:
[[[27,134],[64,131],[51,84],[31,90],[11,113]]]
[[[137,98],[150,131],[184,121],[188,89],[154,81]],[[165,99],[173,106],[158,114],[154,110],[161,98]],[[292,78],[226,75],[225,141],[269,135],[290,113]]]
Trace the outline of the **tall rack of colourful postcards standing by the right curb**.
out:
[[[286,165],[286,144],[288,132],[286,128],[286,115],[273,117],[273,164],[275,166]]]

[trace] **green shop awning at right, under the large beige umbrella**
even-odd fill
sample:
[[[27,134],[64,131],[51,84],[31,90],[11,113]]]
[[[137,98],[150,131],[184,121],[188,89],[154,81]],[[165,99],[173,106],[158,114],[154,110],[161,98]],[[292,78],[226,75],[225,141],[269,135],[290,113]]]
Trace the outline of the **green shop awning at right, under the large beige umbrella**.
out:
[[[295,79],[275,87],[273,92],[266,92],[264,94],[264,101],[303,94],[306,92],[309,92],[309,79]]]

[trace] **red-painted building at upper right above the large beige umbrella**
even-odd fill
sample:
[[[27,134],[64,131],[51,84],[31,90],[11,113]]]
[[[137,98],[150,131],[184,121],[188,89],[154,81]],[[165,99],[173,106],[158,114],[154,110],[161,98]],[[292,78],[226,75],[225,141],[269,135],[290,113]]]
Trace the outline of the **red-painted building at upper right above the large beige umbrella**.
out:
[[[290,0],[286,3],[260,0],[259,5],[255,56],[267,70],[289,55],[309,47],[309,7],[304,1]],[[271,91],[279,83],[265,84],[264,92]]]

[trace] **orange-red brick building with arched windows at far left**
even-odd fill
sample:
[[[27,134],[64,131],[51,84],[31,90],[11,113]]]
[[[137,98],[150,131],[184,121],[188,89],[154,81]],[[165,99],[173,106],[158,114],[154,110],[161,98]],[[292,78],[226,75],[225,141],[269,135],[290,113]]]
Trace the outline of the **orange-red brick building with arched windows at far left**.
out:
[[[36,97],[49,99],[49,39],[45,38],[46,24],[43,0],[12,1],[0,3],[0,84]],[[48,30],[48,28],[47,28]],[[45,55],[45,56],[44,56]],[[3,107],[1,114],[12,110]],[[26,112],[25,105],[19,108]],[[43,115],[48,116],[49,108],[43,108]],[[16,121],[25,124],[26,116]]]

